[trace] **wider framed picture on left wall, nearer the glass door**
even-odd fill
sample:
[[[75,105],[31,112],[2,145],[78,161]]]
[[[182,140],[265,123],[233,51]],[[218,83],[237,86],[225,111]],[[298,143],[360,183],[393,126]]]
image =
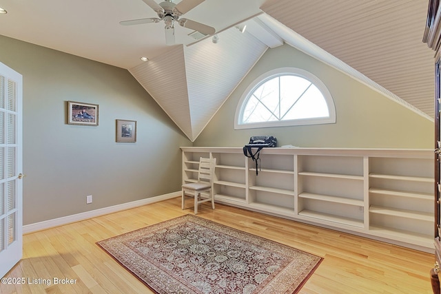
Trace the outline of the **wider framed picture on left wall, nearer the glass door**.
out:
[[[98,105],[68,101],[68,124],[98,125]]]

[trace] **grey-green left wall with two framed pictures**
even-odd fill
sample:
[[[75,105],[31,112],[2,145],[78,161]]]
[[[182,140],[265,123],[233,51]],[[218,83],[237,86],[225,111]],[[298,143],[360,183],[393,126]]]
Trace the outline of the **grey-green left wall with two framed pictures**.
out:
[[[23,224],[181,189],[192,143],[127,70],[5,36],[0,62],[23,75]],[[98,104],[99,126],[66,124],[66,101]],[[115,142],[118,118],[136,143]]]

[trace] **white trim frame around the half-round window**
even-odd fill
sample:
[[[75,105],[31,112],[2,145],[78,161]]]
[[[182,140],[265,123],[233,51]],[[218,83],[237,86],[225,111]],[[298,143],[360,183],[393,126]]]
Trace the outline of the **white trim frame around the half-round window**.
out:
[[[322,92],[328,110],[329,116],[325,118],[301,118],[294,120],[276,120],[276,121],[268,121],[268,122],[260,122],[260,123],[239,123],[241,118],[243,117],[243,110],[245,108],[245,100],[247,99],[249,93],[254,92],[257,87],[265,83],[263,81],[268,81],[271,78],[276,76],[280,76],[281,74],[294,74],[296,76],[300,76],[302,78],[306,78],[307,80],[314,83],[318,90]],[[336,106],[334,105],[334,99],[331,96],[331,93],[327,89],[326,85],[320,81],[317,76],[307,72],[306,70],[302,70],[296,67],[280,67],[276,70],[270,70],[269,72],[265,72],[265,74],[260,75],[256,78],[243,92],[238,105],[236,107],[236,114],[234,115],[234,129],[254,129],[258,127],[286,127],[286,126],[294,126],[294,125],[322,125],[328,123],[336,123]]]

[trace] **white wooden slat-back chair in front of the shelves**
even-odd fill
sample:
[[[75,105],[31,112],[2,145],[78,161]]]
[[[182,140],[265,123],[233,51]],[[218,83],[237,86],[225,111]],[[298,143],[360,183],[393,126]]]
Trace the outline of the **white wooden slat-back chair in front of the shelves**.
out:
[[[216,158],[200,158],[198,169],[198,182],[182,185],[182,209],[185,209],[185,196],[194,197],[194,214],[198,213],[198,204],[211,201],[214,209],[213,176]],[[201,193],[209,193],[209,198],[202,198]]]

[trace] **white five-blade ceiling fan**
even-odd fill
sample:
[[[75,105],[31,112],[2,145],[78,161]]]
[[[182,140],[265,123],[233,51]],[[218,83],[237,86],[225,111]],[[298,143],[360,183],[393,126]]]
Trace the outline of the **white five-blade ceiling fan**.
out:
[[[133,19],[131,21],[120,21],[121,25],[139,25],[141,23],[158,23],[164,21],[165,23],[165,43],[167,45],[174,44],[174,22],[184,28],[196,30],[205,36],[214,34],[216,30],[209,25],[198,23],[190,19],[180,19],[180,17],[192,10],[205,0],[183,0],[178,4],[173,3],[173,0],[165,0],[161,3],[156,3],[154,0],[143,0],[145,4],[150,6],[158,17],[150,17],[147,19]]]

